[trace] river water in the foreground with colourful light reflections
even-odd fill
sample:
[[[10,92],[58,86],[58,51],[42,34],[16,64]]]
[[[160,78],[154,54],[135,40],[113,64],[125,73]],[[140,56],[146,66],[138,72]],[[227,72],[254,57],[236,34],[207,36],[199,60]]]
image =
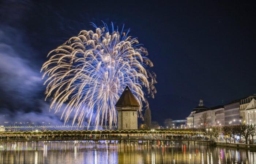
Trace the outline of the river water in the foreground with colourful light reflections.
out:
[[[180,142],[12,142],[0,144],[3,164],[256,164],[256,152]]]

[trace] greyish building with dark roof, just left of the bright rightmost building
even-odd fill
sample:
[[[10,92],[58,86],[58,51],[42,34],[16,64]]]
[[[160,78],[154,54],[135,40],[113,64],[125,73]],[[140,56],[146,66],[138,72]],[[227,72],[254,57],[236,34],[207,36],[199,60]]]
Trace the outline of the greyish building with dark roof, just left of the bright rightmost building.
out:
[[[240,101],[241,99],[237,99],[224,105],[225,126],[241,124]]]

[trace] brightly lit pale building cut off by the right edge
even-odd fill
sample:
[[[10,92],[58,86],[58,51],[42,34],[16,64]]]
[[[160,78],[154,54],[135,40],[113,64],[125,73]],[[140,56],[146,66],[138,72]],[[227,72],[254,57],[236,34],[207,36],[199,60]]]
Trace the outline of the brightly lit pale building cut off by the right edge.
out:
[[[251,102],[246,105],[245,108],[245,124],[256,124],[256,98],[253,98]]]

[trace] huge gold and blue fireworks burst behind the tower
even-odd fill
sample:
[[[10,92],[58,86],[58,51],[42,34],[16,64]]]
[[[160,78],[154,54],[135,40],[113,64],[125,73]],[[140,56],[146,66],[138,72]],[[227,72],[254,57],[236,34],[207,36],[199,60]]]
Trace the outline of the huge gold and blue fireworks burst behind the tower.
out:
[[[146,94],[154,97],[155,73],[147,70],[153,63],[137,38],[103,27],[80,31],[64,44],[49,52],[42,66],[47,79],[46,98],[51,97],[50,110],[61,111],[65,123],[72,114],[72,125],[116,125],[115,104],[129,86],[140,102],[148,107]],[[124,28],[124,27],[123,27]],[[143,92],[143,89],[146,91]],[[45,100],[46,100],[45,98]],[[138,116],[142,117],[141,110]]]

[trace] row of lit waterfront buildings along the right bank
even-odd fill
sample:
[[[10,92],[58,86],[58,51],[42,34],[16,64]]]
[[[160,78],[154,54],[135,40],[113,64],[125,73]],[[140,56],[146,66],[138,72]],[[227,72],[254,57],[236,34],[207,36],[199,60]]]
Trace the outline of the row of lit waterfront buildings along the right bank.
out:
[[[187,128],[256,124],[256,94],[212,108],[204,106],[200,99],[186,119]]]

